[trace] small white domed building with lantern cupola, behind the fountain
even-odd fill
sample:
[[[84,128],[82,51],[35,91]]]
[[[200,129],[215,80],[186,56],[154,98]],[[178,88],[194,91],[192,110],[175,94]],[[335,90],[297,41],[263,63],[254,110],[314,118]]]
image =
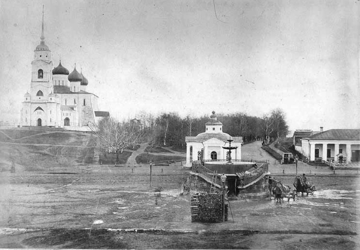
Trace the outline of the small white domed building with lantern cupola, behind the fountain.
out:
[[[205,132],[197,136],[186,136],[186,167],[191,167],[193,160],[228,160],[228,151],[222,147],[228,147],[227,140],[233,140],[231,146],[237,149],[231,150],[233,160],[241,160],[241,146],[243,138],[241,136],[230,136],[222,131],[222,123],[217,121],[215,111],[210,116],[210,121],[205,123]]]

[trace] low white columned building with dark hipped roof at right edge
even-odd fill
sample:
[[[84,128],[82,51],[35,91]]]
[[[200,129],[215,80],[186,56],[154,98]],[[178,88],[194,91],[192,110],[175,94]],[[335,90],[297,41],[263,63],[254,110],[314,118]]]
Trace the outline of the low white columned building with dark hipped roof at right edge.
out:
[[[310,161],[360,162],[360,129],[330,129],[300,141]]]

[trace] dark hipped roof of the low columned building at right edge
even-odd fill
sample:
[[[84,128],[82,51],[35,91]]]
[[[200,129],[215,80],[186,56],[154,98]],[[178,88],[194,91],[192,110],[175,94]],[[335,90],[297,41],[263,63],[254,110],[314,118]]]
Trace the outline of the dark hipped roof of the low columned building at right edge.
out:
[[[360,140],[360,129],[329,129],[305,138],[307,140]]]

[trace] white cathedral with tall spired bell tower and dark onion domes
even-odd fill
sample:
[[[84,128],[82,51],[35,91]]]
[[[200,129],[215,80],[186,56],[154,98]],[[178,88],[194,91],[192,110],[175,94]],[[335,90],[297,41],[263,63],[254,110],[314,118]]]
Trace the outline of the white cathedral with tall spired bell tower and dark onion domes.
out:
[[[88,124],[108,117],[98,110],[98,96],[86,91],[87,79],[76,70],[69,73],[61,65],[54,68],[51,51],[45,44],[44,12],[40,44],[31,62],[30,93],[22,102],[21,126],[61,127],[69,130],[89,130]]]

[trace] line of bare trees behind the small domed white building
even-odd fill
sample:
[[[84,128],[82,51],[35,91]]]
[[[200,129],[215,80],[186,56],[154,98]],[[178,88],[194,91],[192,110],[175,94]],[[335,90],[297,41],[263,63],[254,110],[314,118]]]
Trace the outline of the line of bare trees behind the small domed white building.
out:
[[[279,140],[288,133],[286,115],[279,108],[262,117],[241,112],[216,115],[217,120],[223,124],[223,132],[231,136],[242,136],[244,142]],[[209,115],[180,117],[175,112],[154,115],[143,111],[136,115],[136,119],[119,122],[108,118],[90,127],[99,136],[102,147],[118,152],[140,142],[149,142],[150,146],[185,148],[185,137],[205,132],[205,123],[209,120]]]

